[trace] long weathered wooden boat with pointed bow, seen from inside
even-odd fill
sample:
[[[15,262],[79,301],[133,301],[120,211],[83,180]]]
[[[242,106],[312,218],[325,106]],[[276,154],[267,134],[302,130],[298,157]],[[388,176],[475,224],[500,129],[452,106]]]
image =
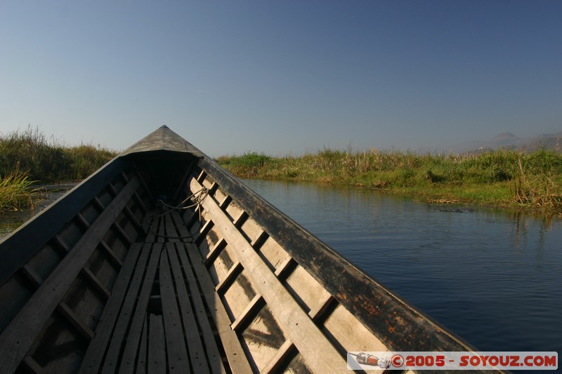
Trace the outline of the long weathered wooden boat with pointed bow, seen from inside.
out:
[[[166,126],[0,244],[0,372],[331,373],[471,351]]]

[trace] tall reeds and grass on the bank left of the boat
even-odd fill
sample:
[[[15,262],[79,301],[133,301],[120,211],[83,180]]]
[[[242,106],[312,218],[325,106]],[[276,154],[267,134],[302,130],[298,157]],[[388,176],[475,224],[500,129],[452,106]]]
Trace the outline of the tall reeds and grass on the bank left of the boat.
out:
[[[31,126],[0,134],[0,212],[32,204],[34,183],[84,179],[115,154],[93,145],[65,147]]]

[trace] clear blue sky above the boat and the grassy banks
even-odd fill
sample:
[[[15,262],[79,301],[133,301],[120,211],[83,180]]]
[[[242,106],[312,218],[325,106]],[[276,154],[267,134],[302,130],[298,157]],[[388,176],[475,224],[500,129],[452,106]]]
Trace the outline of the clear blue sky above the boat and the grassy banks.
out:
[[[562,131],[562,1],[0,1],[0,133],[211,156]]]

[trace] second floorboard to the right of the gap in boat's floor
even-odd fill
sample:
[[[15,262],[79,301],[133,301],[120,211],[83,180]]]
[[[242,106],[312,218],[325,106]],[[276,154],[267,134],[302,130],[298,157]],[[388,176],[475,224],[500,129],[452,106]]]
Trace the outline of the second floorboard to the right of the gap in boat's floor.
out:
[[[185,248],[183,248],[181,244],[176,244],[176,246],[178,247],[178,251],[185,251]],[[189,356],[193,371],[195,373],[209,373],[209,365],[207,364],[207,359],[205,358],[202,337],[200,335],[199,328],[197,328],[197,321],[195,321],[195,314],[193,314],[193,307],[189,300],[188,290],[185,287],[185,281],[183,279],[183,273],[181,272],[176,248],[169,246],[167,251],[170,256],[171,269],[176,283],[176,293],[178,294],[178,303],[181,310],[183,331],[185,334],[185,340],[187,340],[188,343]],[[209,333],[211,333],[210,326]],[[214,356],[214,358],[221,363],[221,369],[219,369],[218,372],[224,372],[222,362],[219,360],[221,355],[219,354],[218,348],[215,344],[211,344],[207,347],[207,354],[209,357]]]

